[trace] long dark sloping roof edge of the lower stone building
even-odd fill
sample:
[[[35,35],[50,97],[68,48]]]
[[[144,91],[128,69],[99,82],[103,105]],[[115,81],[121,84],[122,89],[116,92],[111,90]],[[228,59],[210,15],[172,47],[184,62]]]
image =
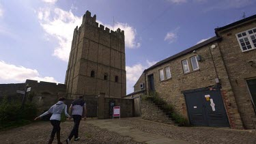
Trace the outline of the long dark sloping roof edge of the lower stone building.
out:
[[[144,72],[147,72],[147,70],[151,70],[151,69],[153,69],[153,68],[156,68],[157,66],[160,66],[160,65],[162,65],[162,64],[164,64],[164,63],[167,63],[167,62],[169,62],[169,61],[171,61],[171,60],[173,60],[173,59],[175,59],[175,58],[177,58],[177,57],[180,57],[180,56],[182,56],[182,55],[185,55],[186,53],[190,53],[191,51],[195,51],[197,48],[201,48],[202,46],[205,46],[205,45],[207,45],[207,44],[210,44],[211,42],[215,42],[216,40],[221,40],[221,38],[219,38],[219,37],[217,37],[217,36],[214,36],[214,37],[212,37],[212,38],[210,38],[210,39],[208,39],[208,40],[205,40],[204,42],[201,42],[200,44],[197,44],[197,45],[195,45],[195,46],[192,46],[192,47],[190,47],[190,48],[188,48],[188,49],[186,49],[186,50],[184,50],[184,51],[182,51],[182,52],[180,52],[180,53],[177,53],[177,54],[175,54],[175,55],[173,55],[173,56],[171,56],[171,57],[168,57],[167,59],[164,59],[164,60],[162,60],[162,61],[159,61],[158,63],[154,64],[154,65],[151,66],[150,68],[147,68],[146,70],[144,70]]]

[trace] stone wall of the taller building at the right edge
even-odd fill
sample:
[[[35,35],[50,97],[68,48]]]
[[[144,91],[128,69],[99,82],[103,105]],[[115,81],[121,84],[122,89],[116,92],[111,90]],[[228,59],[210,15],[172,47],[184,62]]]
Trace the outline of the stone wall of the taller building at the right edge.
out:
[[[248,63],[248,61],[256,62],[256,50],[242,52],[236,39],[236,34],[255,27],[256,20],[253,20],[247,24],[219,31],[218,33],[223,38],[219,46],[245,128],[253,128],[253,119],[256,118],[251,96],[246,85],[247,78],[256,78],[256,68]],[[229,89],[223,91],[223,94],[227,93],[229,93]],[[232,107],[231,105],[230,109]],[[232,113],[238,112],[234,109]],[[236,118],[238,115],[233,117]]]

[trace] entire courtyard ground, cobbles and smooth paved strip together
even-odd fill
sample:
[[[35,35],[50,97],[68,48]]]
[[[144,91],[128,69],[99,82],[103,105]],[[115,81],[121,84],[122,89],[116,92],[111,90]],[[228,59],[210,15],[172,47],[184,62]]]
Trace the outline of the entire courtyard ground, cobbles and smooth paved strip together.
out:
[[[61,123],[62,141],[67,138],[72,126],[72,121]],[[49,121],[42,121],[2,131],[0,132],[0,143],[47,143],[51,129],[52,126]],[[81,141],[76,143],[256,144],[256,133],[252,130],[177,127],[139,118],[89,119],[81,121],[79,132]]]

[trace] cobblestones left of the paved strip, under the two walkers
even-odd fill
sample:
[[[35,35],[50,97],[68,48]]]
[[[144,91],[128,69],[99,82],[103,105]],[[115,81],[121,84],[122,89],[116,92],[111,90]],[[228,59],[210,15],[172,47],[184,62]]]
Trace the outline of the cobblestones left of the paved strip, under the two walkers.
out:
[[[61,123],[61,140],[63,142],[72,129],[72,125],[72,121]],[[52,126],[48,121],[14,128],[12,130],[0,132],[0,143],[47,143],[51,134],[51,129]],[[81,121],[79,132],[81,140],[76,143],[138,143],[128,136],[121,136],[115,132],[100,129],[91,124],[87,124],[86,121]],[[57,143],[56,138],[53,143]]]

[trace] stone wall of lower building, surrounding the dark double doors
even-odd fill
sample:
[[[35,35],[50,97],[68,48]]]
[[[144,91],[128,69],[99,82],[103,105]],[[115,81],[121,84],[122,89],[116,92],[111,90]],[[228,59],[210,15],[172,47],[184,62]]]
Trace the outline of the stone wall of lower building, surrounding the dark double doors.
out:
[[[215,44],[216,48],[210,48],[212,44]],[[227,115],[229,117],[231,128],[242,128],[242,121],[240,119],[240,114],[238,113],[236,100],[233,96],[233,91],[229,83],[221,53],[218,49],[218,42],[212,42],[212,44],[208,44],[197,49],[197,54],[192,53],[191,51],[186,55],[182,55],[176,59],[173,59],[172,61],[162,64],[162,66],[148,70],[146,72],[145,80],[147,93],[149,92],[147,76],[154,74],[155,89],[159,93],[160,98],[163,98],[172,104],[177,113],[180,113],[181,115],[184,115],[184,117],[188,118],[186,102],[181,91],[216,85],[215,78],[218,77],[221,79],[221,85],[223,87],[222,91],[225,93],[225,96],[223,96],[223,101],[227,109]],[[190,57],[195,55],[201,55],[202,61],[199,62],[200,69],[192,71],[192,66],[190,66]],[[184,74],[182,68],[182,60],[184,59],[188,59],[190,67],[190,72],[186,74]],[[160,81],[159,70],[164,69],[167,66],[170,66],[171,68],[171,78],[166,79],[165,76],[165,81]],[[227,106],[231,106],[230,109]]]

